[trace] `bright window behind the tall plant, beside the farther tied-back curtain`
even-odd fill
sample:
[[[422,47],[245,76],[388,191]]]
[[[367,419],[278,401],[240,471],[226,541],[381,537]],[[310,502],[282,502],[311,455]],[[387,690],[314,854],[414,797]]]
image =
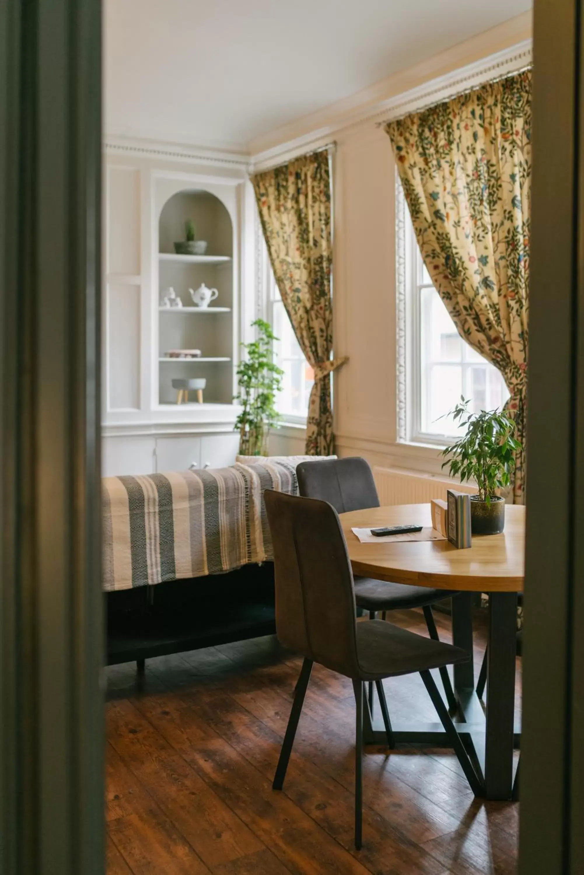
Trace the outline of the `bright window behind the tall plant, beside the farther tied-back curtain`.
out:
[[[274,343],[274,360],[284,371],[282,391],[276,405],[287,422],[306,423],[308,399],[313,388],[314,372],[310,367],[292,329],[292,324],[280,297],[278,283],[274,279],[270,260],[266,253],[267,314],[272,330],[278,340]]]

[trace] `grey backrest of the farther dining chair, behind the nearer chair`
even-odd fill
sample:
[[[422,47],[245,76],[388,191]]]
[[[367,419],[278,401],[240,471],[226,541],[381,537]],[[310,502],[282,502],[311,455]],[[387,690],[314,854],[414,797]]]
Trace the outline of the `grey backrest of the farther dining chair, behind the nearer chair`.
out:
[[[373,472],[364,458],[327,458],[300,462],[296,468],[300,495],[332,504],[337,514],[379,507]]]

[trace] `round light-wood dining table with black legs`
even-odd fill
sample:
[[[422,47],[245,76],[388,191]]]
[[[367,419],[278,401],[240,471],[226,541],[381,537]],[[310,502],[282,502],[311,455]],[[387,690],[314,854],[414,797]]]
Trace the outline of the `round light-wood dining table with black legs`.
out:
[[[454,690],[459,713],[457,729],[475,760],[488,799],[513,794],[515,729],[515,662],[517,655],[517,592],[524,585],[525,508],[505,507],[501,535],[473,537],[468,549],[448,541],[361,543],[352,528],[415,524],[431,526],[429,504],[373,507],[341,514],[348,556],[355,575],[398,584],[458,591],[452,600],[453,642],[470,655],[454,666]],[[486,715],[475,693],[472,593],[489,593],[489,657]],[[366,709],[367,711],[367,709]],[[383,727],[365,715],[369,743],[383,744]],[[397,741],[440,745],[446,741],[440,725],[396,727]]]

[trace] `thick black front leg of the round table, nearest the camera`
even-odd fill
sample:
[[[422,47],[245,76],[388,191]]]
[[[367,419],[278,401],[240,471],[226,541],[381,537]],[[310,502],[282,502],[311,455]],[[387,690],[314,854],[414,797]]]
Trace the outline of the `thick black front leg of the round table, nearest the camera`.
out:
[[[510,799],[513,789],[517,593],[489,593],[489,683],[485,795]]]

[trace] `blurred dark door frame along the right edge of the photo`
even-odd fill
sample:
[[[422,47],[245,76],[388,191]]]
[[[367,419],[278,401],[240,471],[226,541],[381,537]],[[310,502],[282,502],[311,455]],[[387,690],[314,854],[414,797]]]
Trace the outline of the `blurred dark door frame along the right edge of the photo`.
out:
[[[535,0],[519,872],[584,872],[580,0]]]

